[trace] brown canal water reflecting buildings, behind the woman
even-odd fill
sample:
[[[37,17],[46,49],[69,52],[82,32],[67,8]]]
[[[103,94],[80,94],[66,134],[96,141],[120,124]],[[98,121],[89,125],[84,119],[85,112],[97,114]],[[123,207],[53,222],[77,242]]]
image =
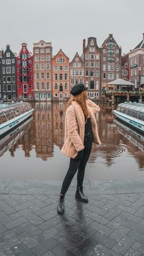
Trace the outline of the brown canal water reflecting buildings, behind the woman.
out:
[[[32,105],[33,117],[0,140],[0,179],[63,180],[70,161],[60,152],[67,103]],[[93,144],[85,180],[144,180],[144,136],[115,119],[115,107],[99,106],[102,144]]]

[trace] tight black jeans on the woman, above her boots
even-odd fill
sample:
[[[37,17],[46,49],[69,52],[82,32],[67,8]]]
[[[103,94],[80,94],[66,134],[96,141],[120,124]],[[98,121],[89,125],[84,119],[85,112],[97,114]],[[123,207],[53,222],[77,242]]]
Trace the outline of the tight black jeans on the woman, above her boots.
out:
[[[70,166],[62,183],[60,194],[65,195],[77,172],[77,186],[82,186],[84,181],[85,166],[92,150],[93,134],[89,133],[84,137],[84,152],[81,160],[70,158]],[[77,171],[78,169],[78,171]]]

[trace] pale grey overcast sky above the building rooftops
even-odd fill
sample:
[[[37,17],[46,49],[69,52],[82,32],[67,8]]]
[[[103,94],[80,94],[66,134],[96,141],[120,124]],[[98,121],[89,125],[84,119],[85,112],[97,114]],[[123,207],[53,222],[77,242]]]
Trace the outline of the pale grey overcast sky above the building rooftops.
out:
[[[0,0],[0,49],[10,44],[19,53],[26,42],[51,42],[73,59],[82,54],[82,40],[96,37],[101,46],[109,34],[122,47],[133,49],[144,33],[144,0]]]

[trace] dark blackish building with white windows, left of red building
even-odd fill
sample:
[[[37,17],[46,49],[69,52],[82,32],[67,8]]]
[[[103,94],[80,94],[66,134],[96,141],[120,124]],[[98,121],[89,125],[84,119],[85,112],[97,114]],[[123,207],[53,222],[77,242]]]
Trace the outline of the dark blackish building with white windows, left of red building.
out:
[[[0,58],[0,100],[15,101],[16,91],[16,57],[7,45]]]

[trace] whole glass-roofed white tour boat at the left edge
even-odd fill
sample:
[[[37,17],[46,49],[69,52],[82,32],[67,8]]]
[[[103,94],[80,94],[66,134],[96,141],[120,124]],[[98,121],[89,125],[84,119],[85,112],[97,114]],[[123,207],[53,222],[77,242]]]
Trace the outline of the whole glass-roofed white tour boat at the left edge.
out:
[[[24,122],[33,111],[27,102],[0,104],[0,136]]]

